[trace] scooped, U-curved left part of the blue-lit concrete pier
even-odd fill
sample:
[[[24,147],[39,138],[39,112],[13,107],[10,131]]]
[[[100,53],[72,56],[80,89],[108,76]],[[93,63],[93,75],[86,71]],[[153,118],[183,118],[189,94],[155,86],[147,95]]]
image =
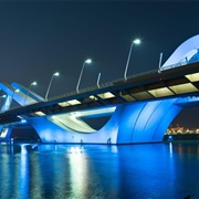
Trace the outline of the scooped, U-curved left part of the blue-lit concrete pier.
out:
[[[93,143],[106,144],[111,138],[112,143],[117,143],[117,133],[124,105],[118,105],[116,112],[112,115],[111,119],[100,130],[94,133],[80,133],[65,130],[45,117],[38,117],[29,119],[28,122],[38,132],[43,143]]]

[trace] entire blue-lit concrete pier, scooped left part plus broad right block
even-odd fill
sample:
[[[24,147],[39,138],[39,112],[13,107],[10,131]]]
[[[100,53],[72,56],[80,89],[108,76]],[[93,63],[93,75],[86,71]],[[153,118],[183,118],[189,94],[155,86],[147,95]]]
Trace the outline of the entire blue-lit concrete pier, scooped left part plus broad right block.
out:
[[[166,129],[182,107],[177,98],[118,105],[100,130],[80,133],[65,130],[45,117],[29,119],[43,143],[112,144],[161,142]]]

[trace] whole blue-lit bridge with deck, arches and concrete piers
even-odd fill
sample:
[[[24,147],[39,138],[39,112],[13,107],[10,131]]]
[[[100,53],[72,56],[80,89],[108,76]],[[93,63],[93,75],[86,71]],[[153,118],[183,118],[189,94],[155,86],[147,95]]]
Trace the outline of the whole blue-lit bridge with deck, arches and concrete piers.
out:
[[[199,105],[199,35],[185,41],[158,70],[91,90],[45,100],[18,83],[0,83],[7,95],[0,140],[31,125],[42,143],[134,144],[161,142],[172,119]],[[18,92],[17,92],[18,91]],[[11,108],[12,102],[19,107]],[[109,116],[101,129],[85,118]]]

